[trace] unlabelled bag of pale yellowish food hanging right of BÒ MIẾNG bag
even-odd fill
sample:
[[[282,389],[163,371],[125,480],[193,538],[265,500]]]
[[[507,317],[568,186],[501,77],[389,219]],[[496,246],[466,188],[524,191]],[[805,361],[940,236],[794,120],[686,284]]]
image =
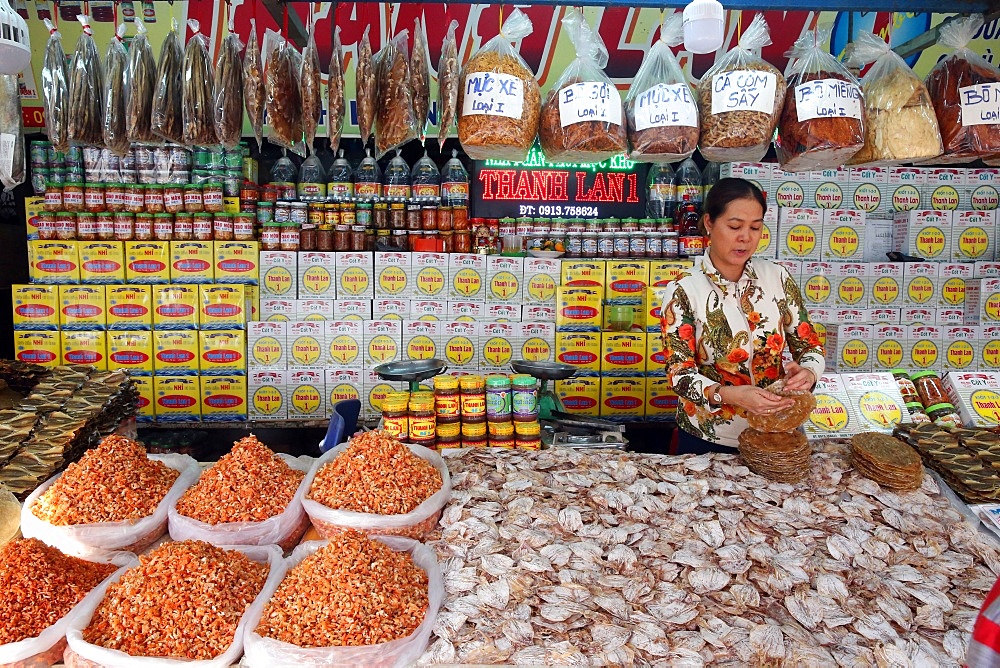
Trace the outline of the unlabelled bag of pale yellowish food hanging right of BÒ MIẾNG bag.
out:
[[[854,38],[845,64],[874,63],[861,81],[865,145],[851,165],[894,165],[941,155],[941,132],[927,88],[885,41],[870,32]]]

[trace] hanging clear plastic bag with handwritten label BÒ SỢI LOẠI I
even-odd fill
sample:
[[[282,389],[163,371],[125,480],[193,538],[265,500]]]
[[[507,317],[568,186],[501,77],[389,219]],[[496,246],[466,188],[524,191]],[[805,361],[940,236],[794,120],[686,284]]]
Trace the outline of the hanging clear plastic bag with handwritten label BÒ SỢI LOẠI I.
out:
[[[608,49],[578,9],[562,20],[576,49],[542,104],[538,138],[551,162],[601,162],[628,151],[618,89],[604,73]]]

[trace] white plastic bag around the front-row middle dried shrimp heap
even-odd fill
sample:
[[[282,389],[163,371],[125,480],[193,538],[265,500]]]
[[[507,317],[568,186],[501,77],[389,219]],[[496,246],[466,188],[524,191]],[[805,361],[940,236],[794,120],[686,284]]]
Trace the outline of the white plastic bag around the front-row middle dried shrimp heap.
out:
[[[122,568],[105,582],[106,586],[104,586],[100,598],[89,601],[85,606],[78,606],[80,609],[70,618],[66,631],[66,642],[69,645],[65,654],[66,668],[228,668],[228,666],[238,664],[240,655],[243,653],[243,639],[247,634],[247,629],[256,628],[261,613],[264,612],[264,606],[271,600],[288,570],[285,559],[282,559],[281,549],[276,545],[238,545],[226,546],[226,549],[241,552],[257,563],[266,563],[269,570],[264,587],[240,617],[236,632],[233,634],[233,642],[226,648],[225,652],[213,659],[197,661],[172,659],[165,656],[133,656],[119,650],[92,645],[84,640],[83,631],[90,625],[94,613],[104,600],[104,594],[108,587],[118,582],[129,570]],[[183,574],[178,575],[183,576]],[[165,599],[172,595],[176,595],[176,593],[164,592]],[[164,615],[161,619],[167,622],[169,616]],[[163,630],[168,631],[168,629]]]

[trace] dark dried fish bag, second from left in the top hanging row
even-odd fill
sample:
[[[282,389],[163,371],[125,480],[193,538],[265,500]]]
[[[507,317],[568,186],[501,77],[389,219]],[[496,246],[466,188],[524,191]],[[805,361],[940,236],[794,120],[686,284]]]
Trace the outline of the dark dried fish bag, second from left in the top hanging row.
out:
[[[104,65],[94,43],[90,18],[76,17],[83,26],[69,64],[69,140],[104,148]]]

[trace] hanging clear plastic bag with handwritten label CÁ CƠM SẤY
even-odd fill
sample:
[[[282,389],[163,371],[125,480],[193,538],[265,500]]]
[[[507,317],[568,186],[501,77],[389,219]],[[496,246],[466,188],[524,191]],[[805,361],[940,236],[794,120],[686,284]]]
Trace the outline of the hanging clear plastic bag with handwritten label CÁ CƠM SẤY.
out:
[[[756,55],[770,43],[767,22],[757,14],[736,48],[701,78],[698,148],[706,160],[756,162],[767,153],[785,103],[785,78]]]

